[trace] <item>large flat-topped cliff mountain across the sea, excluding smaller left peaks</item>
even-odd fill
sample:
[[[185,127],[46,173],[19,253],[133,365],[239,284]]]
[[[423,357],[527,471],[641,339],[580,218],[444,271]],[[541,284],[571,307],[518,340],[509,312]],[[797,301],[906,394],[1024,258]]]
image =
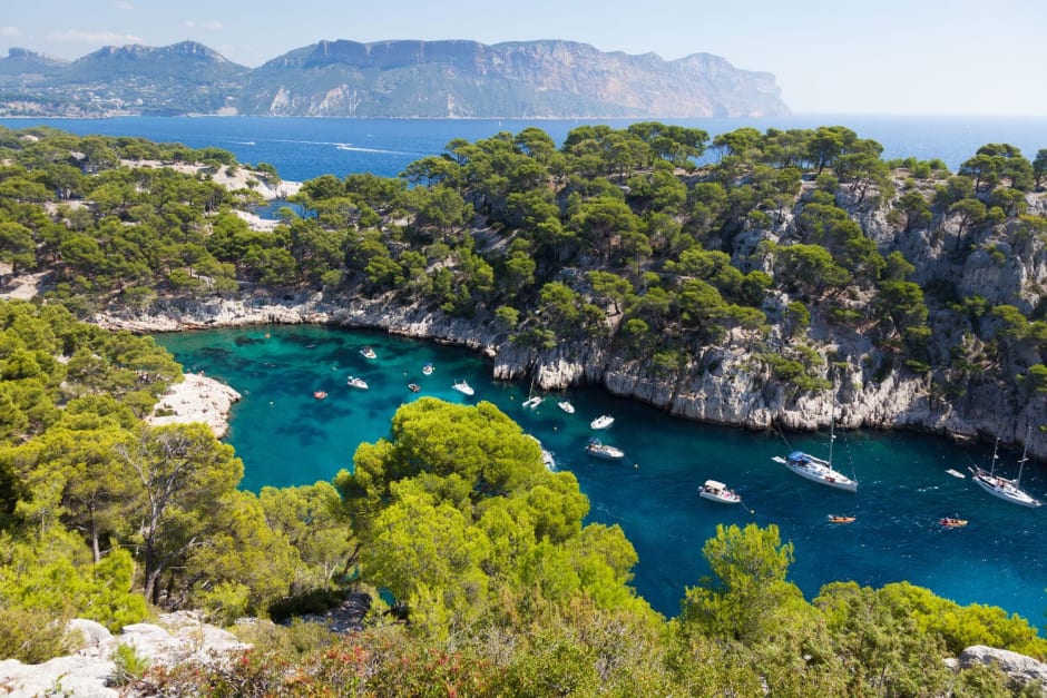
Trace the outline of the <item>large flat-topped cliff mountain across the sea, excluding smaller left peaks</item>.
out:
[[[770,72],[741,70],[708,53],[667,61],[654,53],[604,52],[573,41],[321,41],[268,61],[244,85],[239,111],[274,116],[686,118],[789,112]]]

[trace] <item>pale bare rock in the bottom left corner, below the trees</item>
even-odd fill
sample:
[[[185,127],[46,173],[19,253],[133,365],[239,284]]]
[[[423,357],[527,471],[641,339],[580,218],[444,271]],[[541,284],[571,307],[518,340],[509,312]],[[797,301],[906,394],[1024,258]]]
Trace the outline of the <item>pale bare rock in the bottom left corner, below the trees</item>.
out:
[[[204,623],[192,612],[166,613],[158,623],[126,626],[119,635],[92,620],[76,619],[70,632],[79,632],[84,646],[74,655],[56,657],[39,665],[17,659],[0,661],[0,690],[14,698],[77,696],[117,698],[128,696],[112,686],[116,674],[114,652],[121,645],[134,648],[151,666],[211,665],[249,648],[231,632]]]

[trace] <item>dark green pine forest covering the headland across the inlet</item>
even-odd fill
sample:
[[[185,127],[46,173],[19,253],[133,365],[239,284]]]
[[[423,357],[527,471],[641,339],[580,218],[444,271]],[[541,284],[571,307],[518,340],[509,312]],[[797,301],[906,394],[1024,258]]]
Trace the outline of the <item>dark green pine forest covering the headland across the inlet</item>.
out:
[[[696,167],[710,149],[717,163]],[[961,282],[972,255],[1000,274],[1044,264],[1047,150],[1030,163],[989,144],[956,175],[881,150],[839,126],[712,141],[583,126],[559,148],[527,128],[453,140],[394,179],[310,180],[302,215],[262,233],[233,214],[257,201],[251,188],[120,166],[235,169],[228,153],[0,130],[0,259],[52,271],[48,297],[80,316],[291,287],[415,304],[535,350],[597,344],[667,381],[742,347],[786,400],[828,386],[818,327],[865,381],[924,375],[942,405],[962,412],[980,390],[1021,412],[1047,387],[1043,288],[989,299]],[[930,249],[919,269],[914,249]]]

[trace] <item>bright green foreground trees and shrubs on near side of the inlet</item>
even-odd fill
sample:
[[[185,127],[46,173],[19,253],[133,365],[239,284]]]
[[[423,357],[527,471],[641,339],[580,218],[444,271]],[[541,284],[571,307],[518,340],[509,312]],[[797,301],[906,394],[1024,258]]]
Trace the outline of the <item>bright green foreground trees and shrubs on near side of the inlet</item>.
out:
[[[243,661],[155,670],[141,686],[1007,695],[1000,675],[955,676],[941,659],[976,642],[1047,658],[1025,620],[904,583],[838,582],[808,601],[773,524],[717,529],[694,551],[710,578],[682,589],[679,616],[665,619],[629,587],[637,558],[622,530],[586,524],[575,476],[547,471],[538,443],[490,403],[421,399],[333,483],[244,492],[241,462],[209,431],[145,426],[118,400],[177,376],[151,340],[108,334],[59,305],[4,303],[0,319],[0,391],[25,415],[0,448],[4,657],[62,651],[72,617],[112,629],[158,607],[202,608],[217,622],[284,618],[363,592],[359,632],[256,625]]]

